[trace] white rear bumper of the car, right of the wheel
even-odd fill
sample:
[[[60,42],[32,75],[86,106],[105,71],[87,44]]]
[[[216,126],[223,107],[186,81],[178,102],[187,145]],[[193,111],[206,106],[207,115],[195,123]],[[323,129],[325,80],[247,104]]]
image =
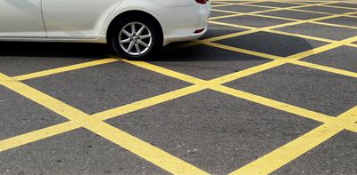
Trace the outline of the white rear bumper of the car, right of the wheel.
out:
[[[195,4],[165,8],[158,12],[161,16],[164,41],[163,44],[173,42],[192,41],[204,35],[207,31],[211,4]],[[198,29],[202,32],[196,33]]]

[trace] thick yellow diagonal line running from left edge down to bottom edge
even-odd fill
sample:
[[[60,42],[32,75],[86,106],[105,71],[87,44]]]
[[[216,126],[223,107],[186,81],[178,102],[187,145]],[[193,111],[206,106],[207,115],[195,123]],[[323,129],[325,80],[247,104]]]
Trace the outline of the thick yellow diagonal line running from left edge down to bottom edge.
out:
[[[41,91],[37,91],[26,84],[22,84],[11,77],[0,74],[0,84],[68,118],[73,123],[77,123],[87,130],[95,132],[95,134],[112,141],[118,146],[128,149],[132,153],[161,167],[163,170],[173,174],[208,174],[194,165],[180,160],[178,157],[170,155],[125,131],[121,131],[108,123],[87,115],[79,109],[71,107],[58,99],[54,99]]]

